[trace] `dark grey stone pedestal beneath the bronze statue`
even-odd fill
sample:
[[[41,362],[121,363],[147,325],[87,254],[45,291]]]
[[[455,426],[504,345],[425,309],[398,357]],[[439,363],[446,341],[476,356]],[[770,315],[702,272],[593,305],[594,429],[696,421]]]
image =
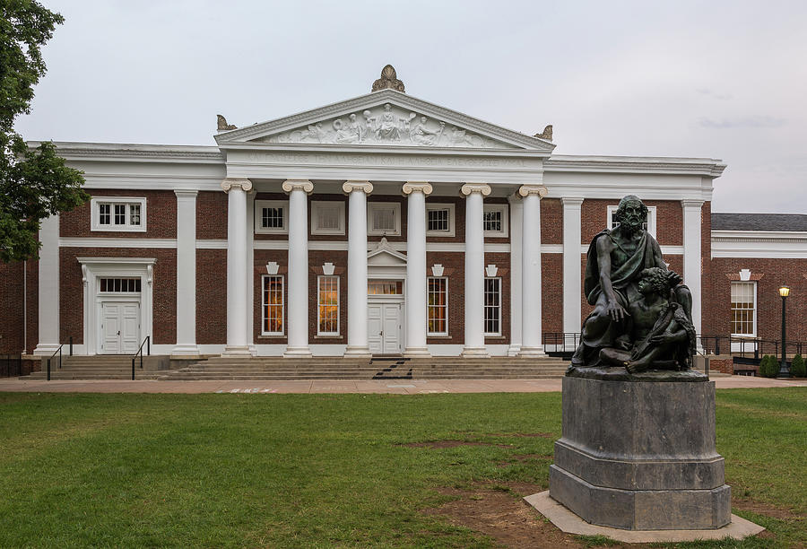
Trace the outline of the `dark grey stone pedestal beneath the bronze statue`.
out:
[[[715,383],[681,379],[564,378],[551,497],[605,527],[728,524],[731,489],[715,446]]]

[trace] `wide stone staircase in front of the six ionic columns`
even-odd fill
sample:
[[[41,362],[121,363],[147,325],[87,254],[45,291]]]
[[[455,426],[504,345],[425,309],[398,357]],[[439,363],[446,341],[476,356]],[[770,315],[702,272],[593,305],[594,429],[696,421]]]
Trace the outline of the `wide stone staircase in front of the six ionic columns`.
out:
[[[567,366],[568,362],[551,357],[213,357],[163,372],[159,379],[551,379],[563,377]]]

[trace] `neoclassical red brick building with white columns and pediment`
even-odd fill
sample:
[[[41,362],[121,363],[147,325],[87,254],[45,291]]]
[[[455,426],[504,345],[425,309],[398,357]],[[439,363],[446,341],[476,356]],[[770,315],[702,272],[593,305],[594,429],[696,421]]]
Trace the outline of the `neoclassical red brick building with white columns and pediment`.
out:
[[[783,283],[807,304],[807,216],[712,213],[721,161],[557,155],[551,129],[399,84],[220,118],[213,146],[58,143],[92,199],[43,222],[39,261],[0,266],[0,351],[540,354],[579,331],[586,248],[628,194],[699,333],[777,337]],[[789,329],[805,339],[803,315]]]

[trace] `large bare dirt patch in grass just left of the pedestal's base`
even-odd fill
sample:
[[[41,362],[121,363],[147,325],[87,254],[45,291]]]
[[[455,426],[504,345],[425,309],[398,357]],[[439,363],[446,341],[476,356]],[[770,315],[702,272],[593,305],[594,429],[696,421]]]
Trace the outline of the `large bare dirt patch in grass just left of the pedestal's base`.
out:
[[[509,492],[501,487],[509,488]],[[584,547],[567,536],[524,501],[513,497],[541,492],[537,484],[484,484],[471,490],[443,488],[439,492],[457,499],[423,512],[447,518],[455,526],[471,528],[507,547]]]

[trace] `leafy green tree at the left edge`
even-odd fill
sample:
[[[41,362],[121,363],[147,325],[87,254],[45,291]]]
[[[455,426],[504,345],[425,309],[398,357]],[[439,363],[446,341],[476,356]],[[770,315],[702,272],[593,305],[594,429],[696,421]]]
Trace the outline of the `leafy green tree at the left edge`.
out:
[[[65,166],[53,143],[30,149],[14,119],[30,112],[45,74],[40,48],[65,19],[36,0],[0,0],[0,261],[38,257],[39,222],[89,200],[82,172]]]

